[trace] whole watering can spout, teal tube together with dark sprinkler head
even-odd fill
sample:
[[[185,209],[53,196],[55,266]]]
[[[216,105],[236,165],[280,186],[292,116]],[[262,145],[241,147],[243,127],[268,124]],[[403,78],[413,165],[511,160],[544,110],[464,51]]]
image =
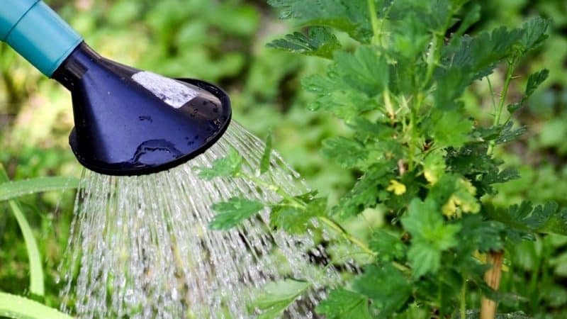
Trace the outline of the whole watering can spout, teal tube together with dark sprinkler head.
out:
[[[140,175],[175,167],[208,150],[230,123],[222,89],[101,57],[42,1],[2,0],[0,40],[71,91],[69,144],[94,172]]]

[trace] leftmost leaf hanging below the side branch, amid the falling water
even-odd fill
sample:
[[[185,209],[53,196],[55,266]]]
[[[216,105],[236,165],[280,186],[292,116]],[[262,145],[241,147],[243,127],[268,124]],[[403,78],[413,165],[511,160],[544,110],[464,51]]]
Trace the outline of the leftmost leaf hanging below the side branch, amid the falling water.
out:
[[[264,208],[264,204],[258,201],[250,201],[246,198],[230,198],[228,201],[214,203],[211,206],[218,213],[209,223],[209,228],[215,230],[228,230],[240,224],[242,220],[254,216]]]

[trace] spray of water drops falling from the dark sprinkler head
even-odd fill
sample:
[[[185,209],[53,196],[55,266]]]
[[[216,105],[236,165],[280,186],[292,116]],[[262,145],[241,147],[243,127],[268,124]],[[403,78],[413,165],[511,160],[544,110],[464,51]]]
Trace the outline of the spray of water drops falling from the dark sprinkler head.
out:
[[[234,196],[279,201],[243,179],[197,176],[234,147],[255,172],[264,144],[237,123],[203,155],[167,172],[111,177],[84,172],[69,247],[60,272],[63,310],[79,318],[255,318],[254,293],[269,281],[305,279],[323,285],[338,274],[316,267],[323,255],[310,236],[269,229],[268,212],[229,231],[208,229],[211,204]],[[274,152],[272,176],[290,194],[307,190]],[[266,177],[260,177],[265,179]],[[318,285],[285,318],[314,318]]]

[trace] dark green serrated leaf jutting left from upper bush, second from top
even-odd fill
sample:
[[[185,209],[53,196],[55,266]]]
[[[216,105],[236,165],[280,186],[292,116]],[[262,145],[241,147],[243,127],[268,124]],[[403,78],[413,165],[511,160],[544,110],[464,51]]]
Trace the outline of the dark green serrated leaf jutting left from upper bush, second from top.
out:
[[[341,48],[341,44],[332,30],[325,27],[310,28],[307,35],[295,32],[286,35],[286,38],[272,41],[268,46],[327,59],[331,59],[333,52]]]

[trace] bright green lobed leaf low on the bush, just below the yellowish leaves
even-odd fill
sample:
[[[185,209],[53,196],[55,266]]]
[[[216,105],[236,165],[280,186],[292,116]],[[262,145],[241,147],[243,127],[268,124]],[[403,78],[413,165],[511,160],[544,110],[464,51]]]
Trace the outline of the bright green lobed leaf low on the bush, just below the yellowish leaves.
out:
[[[441,254],[457,244],[460,225],[444,221],[437,203],[428,198],[425,202],[415,198],[402,219],[405,230],[412,235],[408,259],[416,278],[435,274],[441,267]]]

